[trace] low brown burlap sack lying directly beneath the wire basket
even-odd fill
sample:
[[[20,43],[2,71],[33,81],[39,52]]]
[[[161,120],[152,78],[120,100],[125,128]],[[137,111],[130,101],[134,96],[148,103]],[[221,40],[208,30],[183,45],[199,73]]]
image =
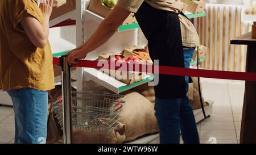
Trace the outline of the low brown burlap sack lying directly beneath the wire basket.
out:
[[[125,141],[125,124],[119,123],[109,135],[73,129],[72,136],[73,144],[120,144]]]

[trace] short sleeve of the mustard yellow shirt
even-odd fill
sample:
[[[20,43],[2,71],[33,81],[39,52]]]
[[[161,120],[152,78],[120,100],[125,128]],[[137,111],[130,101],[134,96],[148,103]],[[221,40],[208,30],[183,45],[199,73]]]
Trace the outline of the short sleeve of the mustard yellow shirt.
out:
[[[27,14],[34,16],[34,18],[38,19],[39,22],[39,12],[36,11],[35,7],[36,3],[31,0],[14,0],[15,7],[13,7],[13,25],[16,27],[18,23],[26,16]]]

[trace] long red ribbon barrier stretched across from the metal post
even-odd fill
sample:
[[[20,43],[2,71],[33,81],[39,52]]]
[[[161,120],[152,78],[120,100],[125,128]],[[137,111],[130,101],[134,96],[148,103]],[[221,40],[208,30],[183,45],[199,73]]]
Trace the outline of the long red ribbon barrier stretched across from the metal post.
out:
[[[59,65],[59,58],[53,57],[53,64]],[[114,68],[110,68],[110,64],[108,66],[98,66],[98,61],[90,61],[90,60],[80,60],[78,64],[73,65],[74,67],[82,67],[82,68],[96,68],[96,69],[114,69],[114,70],[129,70],[135,72],[147,72],[147,73],[155,73],[154,66],[152,65],[139,65],[139,68],[135,69],[135,65],[133,67],[123,67],[115,66]],[[146,68],[147,70],[143,70]],[[152,70],[148,70],[148,68],[152,68]],[[159,68],[159,74],[172,75],[172,76],[189,76],[189,77],[204,77],[204,78],[218,78],[218,79],[233,79],[233,80],[242,80],[242,81],[256,81],[256,73],[245,73],[245,72],[229,72],[229,71],[220,71],[220,70],[207,70],[207,69],[189,69],[189,68],[179,68],[179,67],[171,67],[171,66],[155,66],[155,68]]]

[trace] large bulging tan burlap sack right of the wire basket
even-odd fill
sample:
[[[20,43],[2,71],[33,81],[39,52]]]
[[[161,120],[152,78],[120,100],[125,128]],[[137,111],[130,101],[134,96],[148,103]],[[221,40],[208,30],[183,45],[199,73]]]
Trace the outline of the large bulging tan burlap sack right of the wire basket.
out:
[[[154,105],[137,92],[130,91],[125,95],[126,105],[120,120],[126,125],[125,142],[159,132]]]

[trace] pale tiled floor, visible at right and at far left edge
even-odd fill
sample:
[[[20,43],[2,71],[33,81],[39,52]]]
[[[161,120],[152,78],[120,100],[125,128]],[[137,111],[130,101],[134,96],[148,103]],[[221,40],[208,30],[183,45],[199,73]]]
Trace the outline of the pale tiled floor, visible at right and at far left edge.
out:
[[[244,82],[201,79],[203,96],[214,100],[213,114],[197,124],[201,143],[239,143]],[[0,143],[14,141],[12,107],[0,106]]]

